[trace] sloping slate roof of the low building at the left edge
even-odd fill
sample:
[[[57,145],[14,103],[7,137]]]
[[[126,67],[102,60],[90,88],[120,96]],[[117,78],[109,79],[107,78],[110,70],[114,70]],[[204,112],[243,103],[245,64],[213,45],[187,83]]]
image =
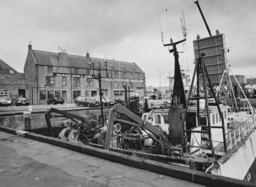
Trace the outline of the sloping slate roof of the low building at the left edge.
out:
[[[13,73],[10,73],[10,70]],[[0,59],[0,79],[11,81],[11,80],[22,80],[25,79],[24,73],[18,73],[15,69]]]

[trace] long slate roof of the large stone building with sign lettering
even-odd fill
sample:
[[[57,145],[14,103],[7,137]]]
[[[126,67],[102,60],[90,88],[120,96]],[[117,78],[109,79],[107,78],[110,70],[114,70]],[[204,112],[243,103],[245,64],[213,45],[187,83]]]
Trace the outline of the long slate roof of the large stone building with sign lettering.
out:
[[[34,59],[37,64],[44,66],[58,66],[59,53],[46,52],[41,50],[31,50]],[[74,68],[87,68],[92,69],[92,62],[95,63],[95,67],[104,65],[104,62],[108,63],[108,70],[121,71],[129,73],[144,73],[142,69],[136,63],[128,63],[118,60],[105,60],[94,57],[78,56],[78,55],[67,55],[67,66]],[[102,67],[103,68],[103,67]]]

